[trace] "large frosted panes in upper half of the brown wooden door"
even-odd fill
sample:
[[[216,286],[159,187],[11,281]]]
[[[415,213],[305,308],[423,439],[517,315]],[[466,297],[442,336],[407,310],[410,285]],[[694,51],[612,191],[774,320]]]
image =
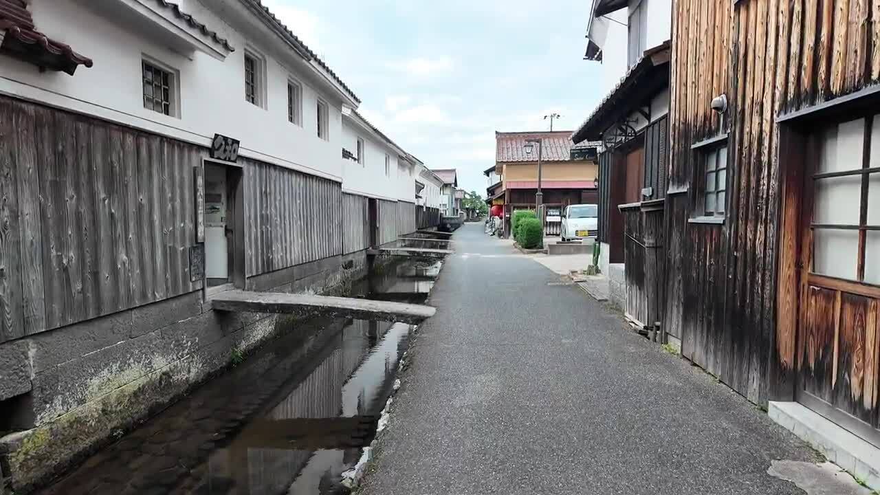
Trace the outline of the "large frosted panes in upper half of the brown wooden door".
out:
[[[812,271],[880,285],[880,115],[816,135]]]

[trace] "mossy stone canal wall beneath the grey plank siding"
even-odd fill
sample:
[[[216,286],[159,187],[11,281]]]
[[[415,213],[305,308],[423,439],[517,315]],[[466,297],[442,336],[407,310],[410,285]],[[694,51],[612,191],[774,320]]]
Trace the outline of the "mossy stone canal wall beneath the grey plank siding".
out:
[[[366,274],[361,251],[251,277],[248,286],[342,294]],[[213,311],[202,292],[192,292],[6,344],[0,364],[33,386],[0,411],[10,418],[7,428],[27,428],[0,440],[0,465],[16,493],[26,492],[239,354],[295,329],[288,316]],[[3,386],[14,387],[18,379],[9,381]]]

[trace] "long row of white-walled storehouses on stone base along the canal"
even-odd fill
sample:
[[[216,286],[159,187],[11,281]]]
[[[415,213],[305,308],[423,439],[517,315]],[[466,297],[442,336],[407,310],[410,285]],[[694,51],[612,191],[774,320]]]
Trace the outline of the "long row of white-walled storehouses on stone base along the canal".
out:
[[[335,290],[369,247],[436,225],[422,162],[359,104],[259,0],[0,0],[14,488],[275,335],[212,294]]]

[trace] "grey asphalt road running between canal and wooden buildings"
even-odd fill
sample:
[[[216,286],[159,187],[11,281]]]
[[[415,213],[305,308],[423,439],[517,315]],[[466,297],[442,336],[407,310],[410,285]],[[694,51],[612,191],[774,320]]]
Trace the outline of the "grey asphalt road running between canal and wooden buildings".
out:
[[[803,494],[766,469],[817,456],[764,412],[482,224],[454,240],[363,493]]]

